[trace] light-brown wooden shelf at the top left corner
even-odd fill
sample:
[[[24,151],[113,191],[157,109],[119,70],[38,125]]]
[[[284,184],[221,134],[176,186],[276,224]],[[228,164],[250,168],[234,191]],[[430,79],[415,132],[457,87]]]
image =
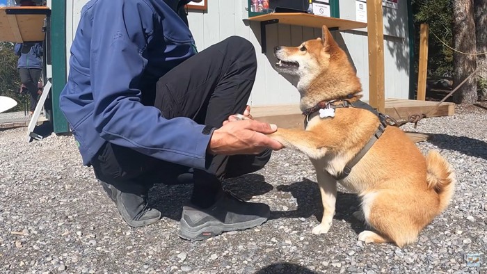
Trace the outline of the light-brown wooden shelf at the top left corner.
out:
[[[44,19],[51,10],[45,6],[0,8],[0,41],[42,41]]]

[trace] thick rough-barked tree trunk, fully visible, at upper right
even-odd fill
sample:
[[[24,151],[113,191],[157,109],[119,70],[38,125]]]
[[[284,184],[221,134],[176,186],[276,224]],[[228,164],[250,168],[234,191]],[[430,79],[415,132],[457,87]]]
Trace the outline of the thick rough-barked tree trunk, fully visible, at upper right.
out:
[[[453,41],[454,48],[468,54],[477,52],[475,49],[475,24],[473,0],[453,1]],[[474,70],[477,69],[476,56],[454,51],[453,83],[458,86]],[[453,95],[456,104],[472,104],[477,102],[477,77],[472,76]]]

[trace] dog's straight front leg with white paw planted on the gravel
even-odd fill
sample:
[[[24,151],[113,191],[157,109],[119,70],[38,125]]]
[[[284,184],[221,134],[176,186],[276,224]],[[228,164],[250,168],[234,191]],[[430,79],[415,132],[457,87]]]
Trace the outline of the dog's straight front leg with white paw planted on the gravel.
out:
[[[317,172],[321,202],[323,202],[323,218],[321,218],[321,224],[312,230],[313,234],[319,235],[327,233],[333,222],[335,203],[337,202],[337,181],[323,171],[324,166],[322,161],[312,160],[312,163]]]

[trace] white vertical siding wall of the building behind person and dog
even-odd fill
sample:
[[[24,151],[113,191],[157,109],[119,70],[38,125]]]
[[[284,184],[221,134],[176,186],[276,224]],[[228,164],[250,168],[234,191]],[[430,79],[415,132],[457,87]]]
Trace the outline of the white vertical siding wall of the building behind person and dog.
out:
[[[67,62],[69,62],[71,42],[77,29],[81,8],[87,1],[67,1]],[[297,46],[303,40],[320,37],[321,29],[271,24],[267,26],[267,53],[262,54],[260,23],[246,20],[248,19],[247,0],[207,1],[207,11],[190,10],[188,16],[189,26],[198,51],[232,35],[250,40],[257,54],[257,79],[252,95],[250,95],[249,104],[253,106],[297,104],[299,95],[296,88],[273,69],[273,64],[276,63],[276,59],[273,57],[273,47],[276,45]],[[407,99],[409,89],[408,18],[406,0],[399,2],[398,10],[384,8],[385,97]],[[354,19],[354,7],[354,0],[340,1],[341,17]],[[366,29],[335,31],[334,36],[351,57],[362,82],[364,99],[368,99],[369,63]]]

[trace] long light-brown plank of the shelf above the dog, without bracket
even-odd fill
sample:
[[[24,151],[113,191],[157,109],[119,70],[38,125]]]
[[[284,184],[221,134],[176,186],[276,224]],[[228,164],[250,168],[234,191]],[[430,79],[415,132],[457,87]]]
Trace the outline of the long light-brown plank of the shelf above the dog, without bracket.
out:
[[[312,28],[321,28],[326,25],[328,28],[346,29],[360,29],[365,28],[367,23],[356,22],[346,19],[339,19],[334,17],[324,17],[319,15],[310,15],[308,13],[269,13],[266,15],[258,15],[250,17],[250,21],[267,21],[272,19],[279,19],[280,24],[289,24],[294,26],[310,26]]]

